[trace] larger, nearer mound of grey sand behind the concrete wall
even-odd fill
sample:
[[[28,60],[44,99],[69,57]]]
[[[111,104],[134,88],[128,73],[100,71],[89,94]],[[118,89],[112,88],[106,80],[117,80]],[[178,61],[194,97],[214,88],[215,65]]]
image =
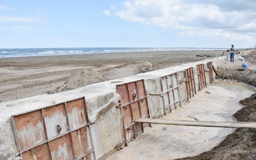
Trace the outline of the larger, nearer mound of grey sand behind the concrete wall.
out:
[[[49,91],[48,94],[73,90],[107,80],[108,78],[106,78],[102,73],[92,69],[77,69],[70,74],[63,85],[57,87],[54,91]]]

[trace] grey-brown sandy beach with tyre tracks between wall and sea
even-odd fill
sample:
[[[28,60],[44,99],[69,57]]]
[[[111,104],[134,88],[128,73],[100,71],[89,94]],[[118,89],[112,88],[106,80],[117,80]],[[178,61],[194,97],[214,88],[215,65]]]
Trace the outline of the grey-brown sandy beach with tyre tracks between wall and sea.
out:
[[[51,94],[119,77],[195,62],[223,51],[97,53],[0,59],[1,102]]]

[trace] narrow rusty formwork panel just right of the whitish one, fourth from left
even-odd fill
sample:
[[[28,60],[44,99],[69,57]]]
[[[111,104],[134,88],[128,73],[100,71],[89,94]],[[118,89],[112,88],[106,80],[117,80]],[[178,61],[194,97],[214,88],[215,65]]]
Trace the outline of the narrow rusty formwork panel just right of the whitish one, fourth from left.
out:
[[[185,74],[186,74],[186,88],[187,88],[188,99],[189,99],[191,97],[194,97],[194,94],[196,94],[196,85],[195,85],[193,68],[191,67],[186,69]]]

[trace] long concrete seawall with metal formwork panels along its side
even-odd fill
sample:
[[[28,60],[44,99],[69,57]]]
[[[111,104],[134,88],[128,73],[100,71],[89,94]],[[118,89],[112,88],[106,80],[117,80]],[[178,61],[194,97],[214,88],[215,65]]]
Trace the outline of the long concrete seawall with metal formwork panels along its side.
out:
[[[0,159],[103,159],[150,125],[134,120],[164,116],[204,90],[225,58],[0,103]]]

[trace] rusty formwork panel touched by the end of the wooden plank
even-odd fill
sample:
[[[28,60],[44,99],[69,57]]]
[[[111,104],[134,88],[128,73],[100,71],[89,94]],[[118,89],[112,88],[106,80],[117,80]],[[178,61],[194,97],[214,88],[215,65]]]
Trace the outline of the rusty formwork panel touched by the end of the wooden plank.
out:
[[[125,144],[136,137],[143,128],[150,124],[134,123],[139,118],[150,118],[144,80],[116,86],[121,96]]]

